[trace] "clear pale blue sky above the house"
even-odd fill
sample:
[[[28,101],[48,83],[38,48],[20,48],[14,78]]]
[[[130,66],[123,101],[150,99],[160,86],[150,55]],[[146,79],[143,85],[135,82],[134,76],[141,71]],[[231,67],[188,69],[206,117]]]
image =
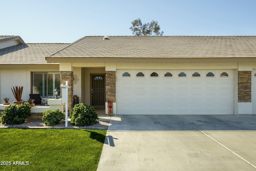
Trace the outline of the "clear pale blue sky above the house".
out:
[[[158,21],[164,36],[256,36],[256,0],[1,0],[0,35],[26,43],[132,36]]]

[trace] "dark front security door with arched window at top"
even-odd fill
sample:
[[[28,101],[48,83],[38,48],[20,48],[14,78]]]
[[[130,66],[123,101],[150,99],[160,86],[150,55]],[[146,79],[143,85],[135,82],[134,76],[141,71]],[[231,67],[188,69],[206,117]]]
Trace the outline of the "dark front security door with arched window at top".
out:
[[[91,74],[91,105],[105,107],[105,74]]]

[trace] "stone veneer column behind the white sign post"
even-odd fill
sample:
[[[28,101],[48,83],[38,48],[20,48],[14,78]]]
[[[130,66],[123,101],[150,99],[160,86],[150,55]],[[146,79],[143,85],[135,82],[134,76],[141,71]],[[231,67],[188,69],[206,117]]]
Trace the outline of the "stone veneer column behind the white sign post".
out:
[[[72,71],[60,71],[60,84],[66,84],[68,81],[68,111],[71,112],[73,106],[74,97],[74,75]],[[62,97],[62,93],[60,94]]]

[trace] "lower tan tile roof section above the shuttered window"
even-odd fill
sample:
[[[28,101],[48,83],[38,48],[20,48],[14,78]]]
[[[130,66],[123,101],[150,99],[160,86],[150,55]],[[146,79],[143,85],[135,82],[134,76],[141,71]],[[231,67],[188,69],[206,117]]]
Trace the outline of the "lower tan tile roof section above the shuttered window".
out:
[[[0,64],[47,64],[45,57],[69,44],[18,44],[0,49]]]

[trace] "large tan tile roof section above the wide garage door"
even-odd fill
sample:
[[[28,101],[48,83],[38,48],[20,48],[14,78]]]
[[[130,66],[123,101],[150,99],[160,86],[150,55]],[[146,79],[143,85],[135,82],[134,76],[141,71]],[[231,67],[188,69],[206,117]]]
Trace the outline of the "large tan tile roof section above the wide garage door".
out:
[[[48,56],[122,58],[256,57],[256,36],[87,36]]]

